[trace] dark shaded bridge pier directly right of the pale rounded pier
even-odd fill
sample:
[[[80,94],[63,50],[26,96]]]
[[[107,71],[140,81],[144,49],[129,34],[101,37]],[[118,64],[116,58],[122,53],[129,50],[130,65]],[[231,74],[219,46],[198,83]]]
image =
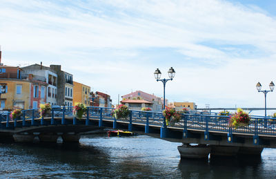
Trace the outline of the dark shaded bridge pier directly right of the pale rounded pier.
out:
[[[236,156],[239,147],[211,145],[211,156]]]

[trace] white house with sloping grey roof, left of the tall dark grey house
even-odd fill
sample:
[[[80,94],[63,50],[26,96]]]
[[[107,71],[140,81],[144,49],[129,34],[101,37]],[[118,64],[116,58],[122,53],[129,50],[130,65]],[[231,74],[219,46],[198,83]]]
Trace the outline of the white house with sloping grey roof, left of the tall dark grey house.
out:
[[[30,66],[22,67],[24,79],[32,75],[32,79],[37,79],[41,82],[46,82],[48,87],[46,88],[46,102],[52,105],[57,103],[57,73],[52,68],[42,66],[41,64],[33,64]]]

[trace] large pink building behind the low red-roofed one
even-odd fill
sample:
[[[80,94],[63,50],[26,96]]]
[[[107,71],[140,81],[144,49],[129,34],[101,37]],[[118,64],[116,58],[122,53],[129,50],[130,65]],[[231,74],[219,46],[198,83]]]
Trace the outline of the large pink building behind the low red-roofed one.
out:
[[[152,103],[152,110],[155,111],[161,111],[163,109],[163,103],[164,100],[161,97],[157,97],[154,94],[150,95],[148,93],[145,93],[143,91],[135,91],[132,93],[129,93],[127,95],[123,95],[121,96],[121,98],[123,99],[122,102],[124,102],[124,100],[146,100],[150,103]],[[168,100],[165,100],[165,104],[168,104]]]

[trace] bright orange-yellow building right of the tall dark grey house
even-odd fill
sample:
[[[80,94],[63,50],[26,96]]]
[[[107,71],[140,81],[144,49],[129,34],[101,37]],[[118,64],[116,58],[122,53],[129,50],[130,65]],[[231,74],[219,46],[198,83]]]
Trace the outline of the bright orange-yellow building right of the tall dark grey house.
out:
[[[73,82],[73,84],[73,105],[83,103],[90,106],[90,86],[78,82]]]

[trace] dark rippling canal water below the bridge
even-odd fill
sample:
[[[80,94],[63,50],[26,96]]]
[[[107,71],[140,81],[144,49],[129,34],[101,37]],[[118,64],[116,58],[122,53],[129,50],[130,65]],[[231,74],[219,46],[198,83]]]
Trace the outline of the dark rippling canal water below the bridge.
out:
[[[276,178],[276,149],[261,158],[181,160],[179,143],[146,135],[84,136],[80,144],[0,144],[0,178]]]

